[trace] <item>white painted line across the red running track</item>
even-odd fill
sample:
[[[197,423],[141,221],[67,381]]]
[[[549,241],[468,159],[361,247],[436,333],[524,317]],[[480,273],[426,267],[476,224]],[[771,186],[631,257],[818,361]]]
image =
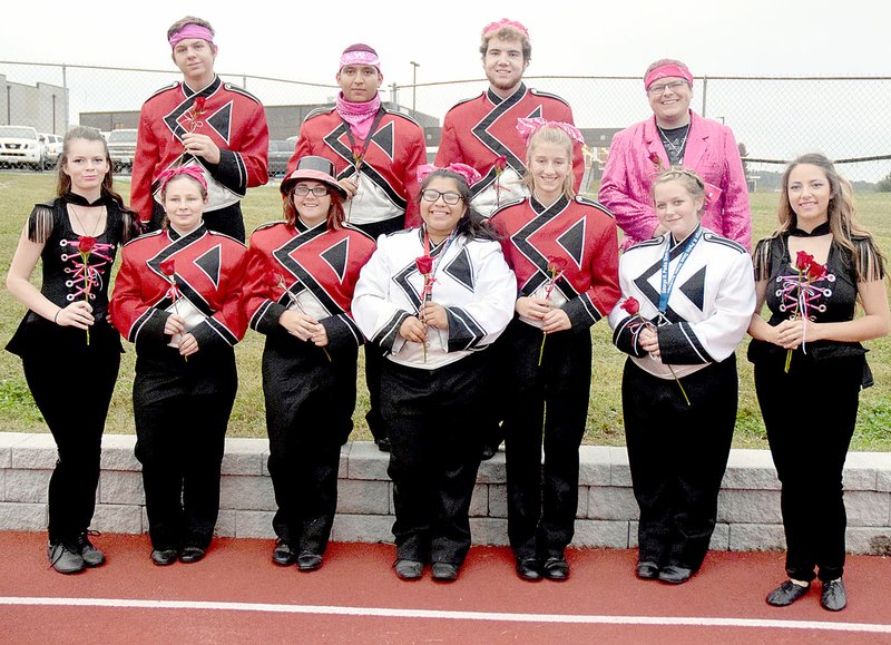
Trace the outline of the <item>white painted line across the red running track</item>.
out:
[[[832,623],[822,620],[771,620],[761,618],[708,618],[698,616],[596,616],[572,614],[509,614],[499,612],[443,612],[384,607],[324,605],[273,605],[267,603],[210,603],[202,600],[135,600],[127,598],[0,597],[0,605],[108,607],[125,609],[202,609],[262,612],[272,614],[321,614],[330,616],[427,618],[440,620],[496,620],[505,623],[564,623],[594,625],[689,625],[698,627],[752,627],[771,629],[820,629],[891,634],[891,625]]]

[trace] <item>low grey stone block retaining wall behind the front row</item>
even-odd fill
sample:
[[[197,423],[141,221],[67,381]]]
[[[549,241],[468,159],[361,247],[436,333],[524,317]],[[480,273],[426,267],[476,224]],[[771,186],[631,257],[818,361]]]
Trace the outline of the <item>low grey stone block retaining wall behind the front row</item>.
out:
[[[92,527],[104,532],[148,530],[134,436],[107,434]],[[265,439],[228,439],[223,460],[217,534],[272,538],[275,509],[266,470]],[[0,433],[0,530],[41,531],[47,526],[47,485],[56,461],[50,434]],[[392,485],[388,457],[356,441],[341,451],[337,517],[332,539],[392,541]],[[806,469],[802,473],[807,476]],[[577,547],[637,546],[637,505],[625,448],[584,446],[579,472]],[[891,555],[891,453],[852,452],[844,472],[848,548]],[[505,455],[484,461],[471,505],[474,544],[507,544]],[[712,548],[784,548],[780,482],[764,450],[734,450],[724,476]]]

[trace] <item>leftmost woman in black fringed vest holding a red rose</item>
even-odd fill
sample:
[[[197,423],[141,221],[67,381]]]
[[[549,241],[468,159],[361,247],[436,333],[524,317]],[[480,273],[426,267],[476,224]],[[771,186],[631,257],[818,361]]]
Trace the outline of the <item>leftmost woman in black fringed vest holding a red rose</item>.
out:
[[[138,228],[111,189],[99,130],[66,135],[58,173],[56,198],[31,211],[9,267],[7,287],[29,311],[7,350],[21,356],[59,451],[49,482],[48,554],[57,571],[74,574],[105,563],[88,535],[121,352],[108,319],[108,282],[118,246]],[[39,290],[30,282],[38,260]]]

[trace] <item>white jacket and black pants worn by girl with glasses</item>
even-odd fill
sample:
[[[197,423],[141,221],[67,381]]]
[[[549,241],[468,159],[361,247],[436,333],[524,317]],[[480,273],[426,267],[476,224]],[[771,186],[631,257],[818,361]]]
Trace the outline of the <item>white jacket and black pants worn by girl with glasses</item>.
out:
[[[486,349],[508,324],[516,281],[493,241],[431,242],[432,301],[449,329],[428,328],[427,344],[399,329],[422,304],[424,228],[381,237],[353,299],[359,328],[386,351],[381,412],[392,441],[396,558],[460,566],[470,548],[468,512],[480,462]]]

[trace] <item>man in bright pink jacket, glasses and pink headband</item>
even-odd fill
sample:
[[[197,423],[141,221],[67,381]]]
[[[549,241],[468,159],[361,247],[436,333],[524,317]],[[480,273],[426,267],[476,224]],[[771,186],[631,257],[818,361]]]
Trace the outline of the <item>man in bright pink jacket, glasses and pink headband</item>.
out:
[[[621,247],[665,233],[650,188],[660,170],[684,166],[705,182],[703,226],[751,248],[748,187],[733,133],[689,109],[693,75],[679,60],[650,65],[644,87],[653,116],[614,137],[600,180],[600,203],[625,233]]]

